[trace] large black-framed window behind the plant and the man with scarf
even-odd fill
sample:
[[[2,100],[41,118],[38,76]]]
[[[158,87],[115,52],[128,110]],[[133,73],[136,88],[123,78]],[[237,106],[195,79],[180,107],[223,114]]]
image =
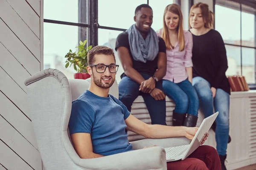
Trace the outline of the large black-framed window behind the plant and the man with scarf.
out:
[[[114,50],[116,37],[134,24],[134,11],[140,4],[153,9],[152,28],[163,27],[163,12],[173,0],[44,0],[44,68],[57,68],[69,79],[76,72],[65,68],[69,49],[75,50],[79,40],[87,45],[105,45]],[[176,1],[175,1],[176,2]],[[177,1],[179,2],[179,1]],[[113,8],[109,8],[109,6]],[[116,80],[124,72],[120,65]]]

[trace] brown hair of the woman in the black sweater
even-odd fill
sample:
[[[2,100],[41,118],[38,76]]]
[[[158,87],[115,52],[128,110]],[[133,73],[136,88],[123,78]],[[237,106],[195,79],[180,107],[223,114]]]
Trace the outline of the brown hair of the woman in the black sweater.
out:
[[[192,10],[194,8],[200,8],[201,14],[204,20],[204,27],[205,28],[212,28],[213,26],[213,16],[214,14],[209,10],[209,6],[206,3],[196,3],[190,8],[189,17],[191,17]],[[190,27],[190,23],[189,23]]]

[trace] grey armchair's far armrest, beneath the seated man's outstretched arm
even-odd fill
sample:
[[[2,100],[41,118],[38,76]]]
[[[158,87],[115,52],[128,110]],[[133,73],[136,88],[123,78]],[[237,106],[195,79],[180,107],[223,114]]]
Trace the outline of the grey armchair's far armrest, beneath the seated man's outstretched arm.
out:
[[[176,137],[176,138],[164,138],[164,139],[142,139],[139,141],[131,142],[132,149],[137,150],[145,146],[157,145],[160,147],[175,147],[185,144],[190,144],[191,140],[186,137]]]

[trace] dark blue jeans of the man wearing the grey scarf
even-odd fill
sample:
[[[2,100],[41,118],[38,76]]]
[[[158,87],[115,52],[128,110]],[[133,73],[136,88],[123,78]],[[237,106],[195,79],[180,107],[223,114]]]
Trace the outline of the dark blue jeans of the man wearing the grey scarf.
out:
[[[148,74],[141,74],[143,78],[149,79],[151,76]],[[131,105],[134,100],[141,95],[147,106],[148,113],[151,118],[151,124],[166,125],[166,100],[155,100],[150,94],[145,94],[139,91],[140,85],[134,82],[129,77],[122,77],[118,85],[119,100],[126,106],[128,111],[131,112]],[[156,83],[156,88],[163,91],[162,80]]]

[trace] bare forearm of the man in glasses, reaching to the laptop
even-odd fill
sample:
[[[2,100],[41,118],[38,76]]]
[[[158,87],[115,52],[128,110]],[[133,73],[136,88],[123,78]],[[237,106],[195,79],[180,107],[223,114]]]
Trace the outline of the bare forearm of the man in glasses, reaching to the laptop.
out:
[[[128,130],[151,139],[182,136],[185,136],[188,139],[193,139],[198,130],[198,127],[148,125],[131,114],[125,119],[125,124],[127,125]]]

